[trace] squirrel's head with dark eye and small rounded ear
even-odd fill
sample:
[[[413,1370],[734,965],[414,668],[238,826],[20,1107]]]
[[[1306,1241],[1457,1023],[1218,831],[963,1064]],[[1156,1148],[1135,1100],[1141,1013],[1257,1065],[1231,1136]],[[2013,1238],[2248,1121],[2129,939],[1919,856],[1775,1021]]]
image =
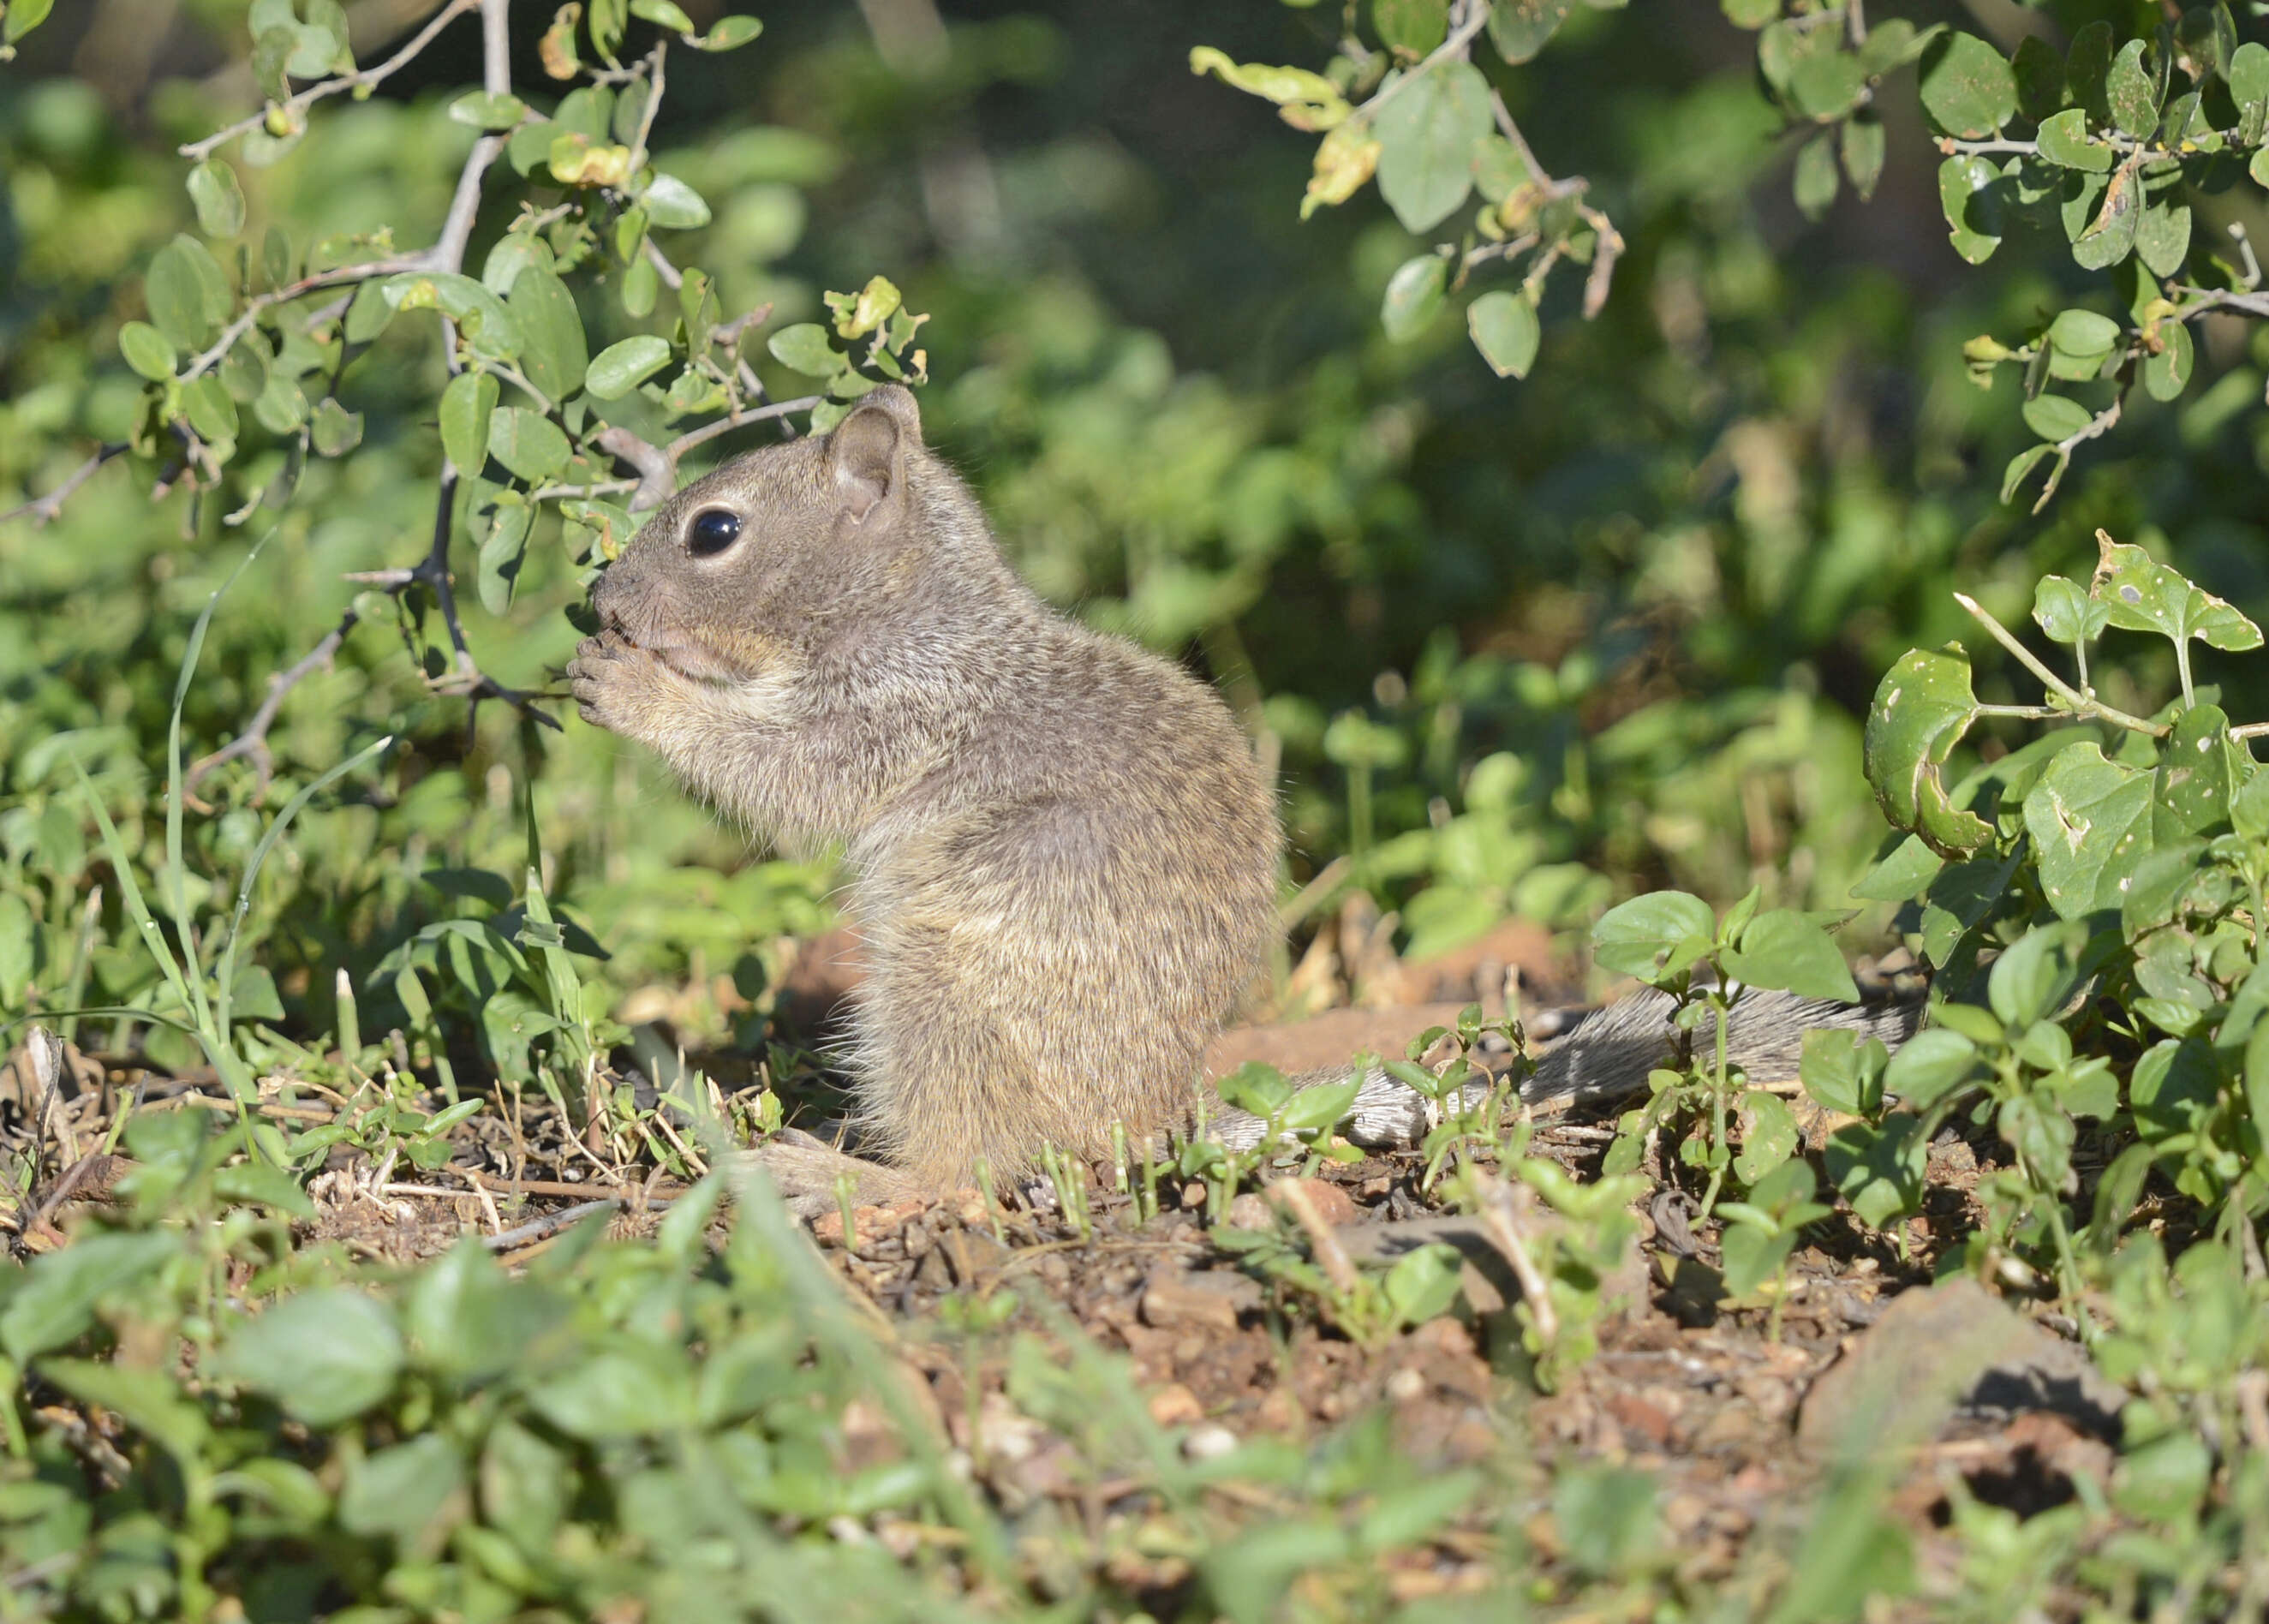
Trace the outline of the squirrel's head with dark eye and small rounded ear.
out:
[[[753,678],[851,631],[862,603],[919,592],[964,508],[912,392],[889,383],[833,433],[749,451],[663,504],[592,608],[685,676]]]

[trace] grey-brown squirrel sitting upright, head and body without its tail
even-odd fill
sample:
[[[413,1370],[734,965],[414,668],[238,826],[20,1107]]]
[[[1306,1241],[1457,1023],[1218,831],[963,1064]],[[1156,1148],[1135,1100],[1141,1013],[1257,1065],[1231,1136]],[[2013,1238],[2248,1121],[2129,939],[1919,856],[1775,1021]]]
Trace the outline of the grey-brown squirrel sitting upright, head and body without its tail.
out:
[[[688,485],[592,603],[588,721],[776,846],[844,851],[860,1130],[896,1170],[849,1164],[864,1193],[1187,1109],[1275,937],[1275,796],[1209,687],[1017,578],[912,395]]]

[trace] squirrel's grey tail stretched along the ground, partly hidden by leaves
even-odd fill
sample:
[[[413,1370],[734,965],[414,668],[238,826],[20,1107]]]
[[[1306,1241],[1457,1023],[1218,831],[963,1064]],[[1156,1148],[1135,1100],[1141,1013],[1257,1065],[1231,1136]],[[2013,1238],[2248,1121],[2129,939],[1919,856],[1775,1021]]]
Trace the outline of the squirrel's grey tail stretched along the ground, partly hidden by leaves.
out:
[[[1636,991],[1597,1009],[1572,1012],[1572,1021],[1538,1046],[1534,1068],[1520,1082],[1522,1105],[1566,1109],[1643,1093],[1647,1073],[1675,1057],[1684,1034],[1670,1025],[1677,1003],[1668,993]],[[1547,1027],[1547,1018],[1536,1025]],[[1845,1005],[1831,998],[1797,998],[1795,993],[1752,991],[1727,1023],[1727,1061],[1740,1066],[1749,1082],[1786,1082],[1797,1075],[1804,1057],[1804,1034],[1820,1027],[1847,1027],[1899,1048],[1922,1023],[1922,998]],[[1693,1043],[1713,1043],[1713,1032],[1697,1032]],[[1300,1084],[1339,1082],[1346,1068],[1316,1071]],[[1479,1084],[1468,1093],[1479,1100]],[[1420,1143],[1439,1120],[1439,1107],[1409,1084],[1384,1071],[1370,1071],[1357,1089],[1348,1114],[1348,1139],[1366,1150],[1398,1150]],[[1223,1143],[1243,1150],[1259,1143],[1264,1123],[1248,1111],[1209,1116],[1209,1130]]]

